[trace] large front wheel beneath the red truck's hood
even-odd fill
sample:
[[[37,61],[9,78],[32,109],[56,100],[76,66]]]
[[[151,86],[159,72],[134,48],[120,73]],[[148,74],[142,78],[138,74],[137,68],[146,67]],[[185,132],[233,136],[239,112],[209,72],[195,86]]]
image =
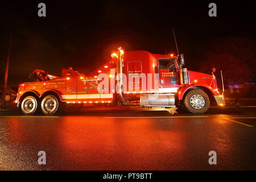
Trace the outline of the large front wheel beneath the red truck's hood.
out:
[[[203,114],[210,106],[210,99],[203,90],[191,90],[185,96],[184,105],[193,114]]]

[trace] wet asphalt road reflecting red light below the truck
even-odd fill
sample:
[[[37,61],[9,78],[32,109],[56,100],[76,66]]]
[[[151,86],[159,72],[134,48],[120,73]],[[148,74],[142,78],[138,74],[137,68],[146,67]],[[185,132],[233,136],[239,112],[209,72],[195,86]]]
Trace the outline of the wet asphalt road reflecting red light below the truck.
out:
[[[172,111],[98,107],[27,117],[2,110],[0,169],[256,169],[255,106]],[[46,165],[38,164],[39,151],[46,152]],[[217,165],[209,165],[209,151],[217,152]]]

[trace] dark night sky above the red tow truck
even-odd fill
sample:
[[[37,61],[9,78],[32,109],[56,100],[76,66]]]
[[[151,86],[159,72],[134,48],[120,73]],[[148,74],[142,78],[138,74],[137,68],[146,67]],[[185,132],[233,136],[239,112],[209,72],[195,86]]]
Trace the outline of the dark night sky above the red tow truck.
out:
[[[46,18],[38,16],[40,2],[46,3]],[[208,16],[210,2],[0,0],[0,84],[10,32],[10,86],[28,81],[33,69],[60,75],[61,68],[73,67],[88,73],[108,61],[117,46],[175,53],[172,27],[193,70],[218,39],[256,39],[255,1],[213,1],[213,18]]]

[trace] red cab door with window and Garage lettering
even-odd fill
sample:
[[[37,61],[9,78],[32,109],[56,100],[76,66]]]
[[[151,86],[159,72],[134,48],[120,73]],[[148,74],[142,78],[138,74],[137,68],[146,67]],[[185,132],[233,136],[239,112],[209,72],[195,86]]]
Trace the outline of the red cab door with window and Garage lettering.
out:
[[[159,92],[177,91],[177,72],[172,59],[159,59]]]

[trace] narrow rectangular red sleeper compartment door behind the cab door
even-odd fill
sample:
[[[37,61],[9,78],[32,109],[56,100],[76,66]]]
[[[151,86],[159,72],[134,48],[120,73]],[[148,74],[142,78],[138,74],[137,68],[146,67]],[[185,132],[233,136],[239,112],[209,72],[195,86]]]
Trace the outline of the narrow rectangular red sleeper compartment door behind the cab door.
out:
[[[128,88],[127,90],[133,90],[133,92],[139,92],[142,90],[142,63],[141,61],[128,61],[127,63],[127,80]],[[129,79],[133,78],[133,79]]]

